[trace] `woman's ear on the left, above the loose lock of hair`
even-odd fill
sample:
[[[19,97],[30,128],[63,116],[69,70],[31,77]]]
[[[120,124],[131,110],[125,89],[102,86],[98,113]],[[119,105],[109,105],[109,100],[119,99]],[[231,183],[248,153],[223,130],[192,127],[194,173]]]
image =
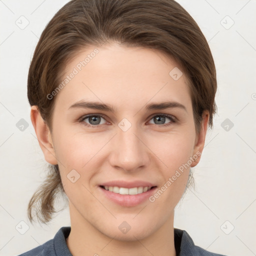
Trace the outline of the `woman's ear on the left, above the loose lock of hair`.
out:
[[[31,122],[44,154],[44,158],[48,163],[57,164],[53,142],[48,125],[44,122],[36,105],[31,106],[30,112]]]

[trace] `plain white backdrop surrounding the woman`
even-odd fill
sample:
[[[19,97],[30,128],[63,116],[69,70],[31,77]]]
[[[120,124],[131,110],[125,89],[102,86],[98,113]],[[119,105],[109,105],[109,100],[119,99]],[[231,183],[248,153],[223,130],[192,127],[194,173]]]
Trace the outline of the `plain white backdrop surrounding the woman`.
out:
[[[48,225],[32,225],[26,216],[28,200],[47,166],[30,121],[27,72],[43,28],[66,2],[0,0],[0,255],[25,252],[70,225],[68,208]],[[256,255],[256,1],[178,2],[209,42],[218,112],[193,168],[195,187],[176,206],[174,227],[185,229],[196,245],[209,251]],[[29,21],[24,29],[15,23],[21,15]],[[24,131],[16,127],[21,118],[29,124]],[[228,130],[221,126],[226,118],[233,123]],[[20,221],[29,226],[24,234],[15,229]]]

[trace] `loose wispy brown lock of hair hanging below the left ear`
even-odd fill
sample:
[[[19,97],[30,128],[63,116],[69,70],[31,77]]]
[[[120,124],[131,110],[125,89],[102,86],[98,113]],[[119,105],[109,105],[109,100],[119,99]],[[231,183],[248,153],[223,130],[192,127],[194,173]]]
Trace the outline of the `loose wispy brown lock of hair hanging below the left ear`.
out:
[[[63,195],[64,189],[60,179],[58,165],[49,166],[49,172],[43,183],[33,193],[29,200],[27,211],[30,222],[34,216],[41,223],[49,222],[55,213],[54,201],[57,195]]]

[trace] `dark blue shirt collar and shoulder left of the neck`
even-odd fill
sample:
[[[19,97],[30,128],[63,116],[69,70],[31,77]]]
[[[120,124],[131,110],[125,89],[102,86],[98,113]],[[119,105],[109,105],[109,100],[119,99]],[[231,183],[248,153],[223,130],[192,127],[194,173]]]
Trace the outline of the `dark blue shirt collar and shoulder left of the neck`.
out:
[[[18,256],[72,256],[65,242],[65,238],[69,235],[70,230],[70,226],[62,226],[53,239]]]

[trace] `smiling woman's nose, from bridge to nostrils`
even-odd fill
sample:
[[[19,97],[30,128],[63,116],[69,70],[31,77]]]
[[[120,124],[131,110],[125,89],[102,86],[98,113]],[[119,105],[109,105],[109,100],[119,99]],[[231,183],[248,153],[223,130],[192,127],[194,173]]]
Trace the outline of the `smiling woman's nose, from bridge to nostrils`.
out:
[[[109,162],[114,168],[125,171],[136,171],[145,168],[150,161],[150,150],[145,143],[145,136],[138,131],[136,125],[123,131],[117,127],[117,134],[111,143]]]

